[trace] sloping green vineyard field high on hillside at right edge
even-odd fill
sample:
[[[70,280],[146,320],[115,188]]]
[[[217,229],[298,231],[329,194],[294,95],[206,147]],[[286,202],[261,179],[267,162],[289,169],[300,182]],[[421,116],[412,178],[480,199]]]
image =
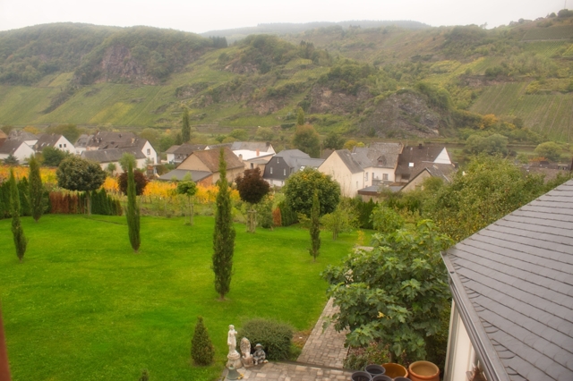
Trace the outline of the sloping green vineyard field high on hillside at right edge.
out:
[[[480,114],[519,116],[528,128],[549,139],[573,141],[573,96],[571,94],[527,95],[526,82],[490,86],[471,110]]]

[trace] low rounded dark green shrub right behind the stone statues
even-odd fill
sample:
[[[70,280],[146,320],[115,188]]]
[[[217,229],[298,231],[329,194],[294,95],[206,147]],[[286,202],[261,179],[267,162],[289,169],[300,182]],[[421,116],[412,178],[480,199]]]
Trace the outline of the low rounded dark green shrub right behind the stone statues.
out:
[[[238,337],[246,337],[252,348],[261,343],[267,360],[288,360],[293,339],[293,328],[274,320],[253,318],[239,330]]]

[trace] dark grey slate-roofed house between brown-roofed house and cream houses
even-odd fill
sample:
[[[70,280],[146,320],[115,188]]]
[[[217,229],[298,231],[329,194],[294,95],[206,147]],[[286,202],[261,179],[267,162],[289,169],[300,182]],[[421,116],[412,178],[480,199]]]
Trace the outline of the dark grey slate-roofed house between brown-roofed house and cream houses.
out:
[[[312,158],[300,149],[285,149],[269,160],[262,177],[270,185],[282,187],[291,174],[306,167],[318,169],[322,163],[324,159]]]

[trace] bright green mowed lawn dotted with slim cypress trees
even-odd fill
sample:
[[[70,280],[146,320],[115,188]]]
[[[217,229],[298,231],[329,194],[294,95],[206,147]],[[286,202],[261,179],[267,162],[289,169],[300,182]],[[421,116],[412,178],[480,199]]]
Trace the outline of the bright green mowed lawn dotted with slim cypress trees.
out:
[[[213,380],[227,355],[227,326],[274,318],[309,329],[326,302],[320,272],[349,252],[356,234],[308,254],[296,227],[244,232],[236,224],[234,275],[218,301],[210,269],[213,218],[142,217],[133,254],[125,217],[22,218],[24,262],[13,248],[11,221],[0,221],[0,299],[13,380]],[[205,319],[216,363],[193,367],[192,329]]]

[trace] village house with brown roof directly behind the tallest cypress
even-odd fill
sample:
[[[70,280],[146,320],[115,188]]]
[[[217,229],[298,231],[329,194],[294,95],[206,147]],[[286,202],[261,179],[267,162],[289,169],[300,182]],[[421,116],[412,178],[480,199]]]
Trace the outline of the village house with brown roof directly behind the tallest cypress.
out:
[[[234,182],[235,178],[243,174],[244,164],[233,153],[230,148],[222,148],[224,152],[225,162],[227,163],[227,180]],[[219,162],[219,149],[209,149],[204,151],[194,151],[192,154],[185,158],[183,163],[177,166],[178,170],[187,171],[201,171],[211,174],[211,183],[215,184],[219,179],[218,162]],[[168,173],[166,175],[169,175]]]

